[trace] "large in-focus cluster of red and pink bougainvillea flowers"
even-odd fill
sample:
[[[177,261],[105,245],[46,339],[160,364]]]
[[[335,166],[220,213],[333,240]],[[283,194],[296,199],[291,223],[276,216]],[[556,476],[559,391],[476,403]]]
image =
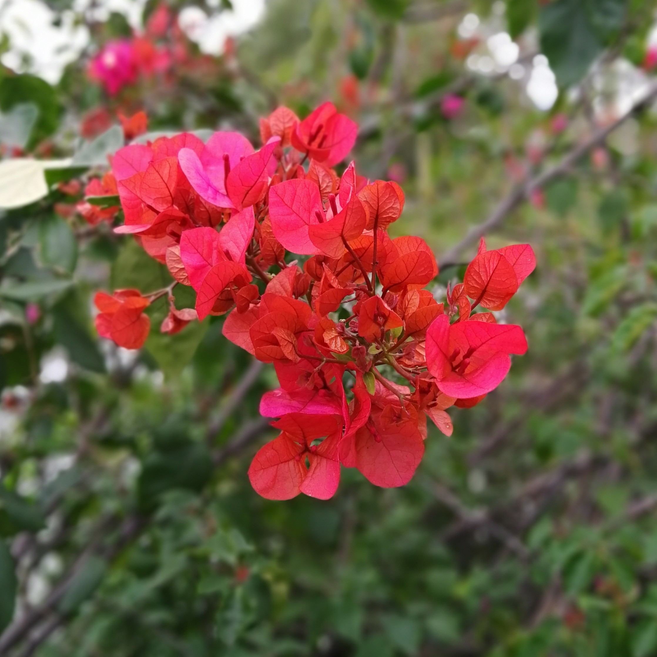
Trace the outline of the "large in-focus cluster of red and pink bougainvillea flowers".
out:
[[[376,486],[406,484],[424,454],[426,419],[452,432],[447,409],[479,403],[523,354],[522,328],[497,323],[532,272],[531,246],[487,250],[439,302],[438,275],[419,237],[388,235],[404,194],[370,181],[351,162],[357,126],[325,103],[306,119],[278,108],[261,120],[256,150],[217,132],[133,144],[112,158],[125,223],[168,267],[164,290],[99,293],[102,336],[135,348],[148,334],[149,304],[168,296],[160,330],[226,315],[223,334],[265,363],[279,388],[260,405],[280,433],[249,468],[269,499],[331,497],[342,466]],[[288,253],[289,252],[289,253]],[[177,284],[196,292],[177,309]]]

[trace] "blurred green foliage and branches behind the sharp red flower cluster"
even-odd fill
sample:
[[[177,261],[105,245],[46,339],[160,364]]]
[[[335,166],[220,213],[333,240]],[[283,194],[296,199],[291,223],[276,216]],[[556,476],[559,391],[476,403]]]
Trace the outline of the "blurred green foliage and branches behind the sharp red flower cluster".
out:
[[[115,97],[85,62],[131,34],[125,16],[48,4],[89,45],[56,85],[2,70],[0,141],[76,154],[49,182],[122,144],[81,141],[99,108],[258,143],[278,104],[331,99],[361,127],[359,172],[403,186],[393,231],[434,248],[436,290],[482,233],[530,242],[538,264],[501,318],[530,351],[455,409],[451,438],[430,428],[408,486],[343,470],[328,502],[275,503],[246,477],[271,438],[271,367],[220,317],[139,353],[99,340],[90,294],[161,286],[159,265],[67,215],[56,185],[3,211],[0,654],[656,655],[655,3],[270,0],[223,55],[178,35],[185,62]]]

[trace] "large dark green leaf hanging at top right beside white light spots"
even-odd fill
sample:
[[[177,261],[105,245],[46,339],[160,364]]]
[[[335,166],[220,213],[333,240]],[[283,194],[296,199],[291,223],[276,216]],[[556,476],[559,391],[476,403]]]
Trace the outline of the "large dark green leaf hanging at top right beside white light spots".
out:
[[[624,17],[624,0],[555,0],[541,7],[541,52],[561,86],[586,74]]]

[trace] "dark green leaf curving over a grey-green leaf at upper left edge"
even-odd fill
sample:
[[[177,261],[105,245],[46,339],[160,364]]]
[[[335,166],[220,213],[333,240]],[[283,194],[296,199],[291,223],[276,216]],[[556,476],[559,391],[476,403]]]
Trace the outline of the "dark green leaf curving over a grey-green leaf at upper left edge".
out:
[[[5,76],[0,80],[0,110],[7,112],[26,102],[39,108],[39,116],[28,143],[28,147],[32,147],[57,130],[63,108],[57,98],[57,91],[41,78],[22,74]]]

